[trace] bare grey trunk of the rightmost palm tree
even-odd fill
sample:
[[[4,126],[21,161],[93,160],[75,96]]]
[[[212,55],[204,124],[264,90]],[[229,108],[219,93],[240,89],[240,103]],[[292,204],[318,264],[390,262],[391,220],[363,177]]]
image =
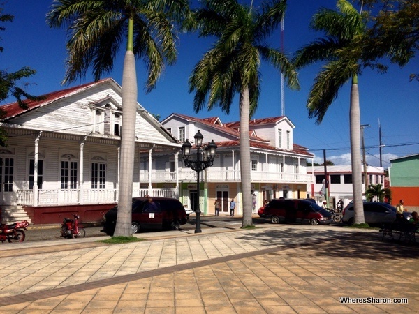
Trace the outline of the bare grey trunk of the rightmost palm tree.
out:
[[[358,91],[358,76],[352,77],[351,110],[349,121],[351,124],[351,164],[354,223],[365,223],[364,207],[362,203],[362,170],[361,170],[361,123],[360,123],[360,94]]]

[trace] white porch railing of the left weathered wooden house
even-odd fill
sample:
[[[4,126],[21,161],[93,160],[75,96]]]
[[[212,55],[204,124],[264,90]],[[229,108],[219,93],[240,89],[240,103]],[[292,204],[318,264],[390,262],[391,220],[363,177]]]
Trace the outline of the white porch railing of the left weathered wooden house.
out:
[[[159,196],[178,197],[175,188],[153,188],[151,193],[147,188],[133,190],[133,197]],[[80,200],[80,190],[38,190],[38,203],[34,204],[34,190],[18,190],[17,205],[73,205],[73,204],[108,204],[118,202],[116,188],[103,190],[83,190]]]

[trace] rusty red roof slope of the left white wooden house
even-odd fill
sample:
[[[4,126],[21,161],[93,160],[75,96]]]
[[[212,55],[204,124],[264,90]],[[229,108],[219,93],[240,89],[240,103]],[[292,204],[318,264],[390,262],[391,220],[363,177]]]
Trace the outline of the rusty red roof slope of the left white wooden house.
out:
[[[68,89],[61,89],[60,91],[53,91],[52,93],[48,93],[45,95],[42,95],[45,99],[40,101],[35,100],[24,100],[24,103],[27,105],[27,108],[22,108],[20,105],[15,103],[8,103],[6,105],[2,105],[1,109],[6,112],[6,115],[3,117],[3,121],[7,121],[8,119],[14,118],[19,116],[20,114],[23,114],[24,112],[29,112],[30,110],[34,110],[39,107],[43,107],[44,105],[50,104],[54,102],[55,100],[58,100],[60,98],[63,98],[65,96],[68,96],[69,94],[73,94],[75,91],[78,91],[80,89],[87,89],[90,88],[96,84],[99,84],[101,82],[105,82],[107,80],[112,80],[110,78],[98,80],[97,82],[91,82],[87,84],[78,85],[75,87],[69,87]]]

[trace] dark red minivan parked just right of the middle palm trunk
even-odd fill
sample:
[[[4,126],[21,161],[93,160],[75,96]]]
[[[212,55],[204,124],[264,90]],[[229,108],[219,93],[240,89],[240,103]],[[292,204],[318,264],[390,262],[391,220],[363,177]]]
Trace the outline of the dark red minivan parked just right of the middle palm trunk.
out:
[[[265,206],[263,215],[272,223],[309,223],[329,225],[332,215],[308,200],[273,199]]]

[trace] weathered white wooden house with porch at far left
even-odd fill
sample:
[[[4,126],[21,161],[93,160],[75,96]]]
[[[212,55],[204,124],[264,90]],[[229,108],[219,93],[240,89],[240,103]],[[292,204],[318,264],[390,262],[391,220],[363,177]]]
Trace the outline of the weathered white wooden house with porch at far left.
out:
[[[112,78],[46,94],[41,101],[1,106],[8,146],[0,147],[3,221],[55,223],[78,211],[98,220],[117,202],[122,89]],[[175,156],[181,144],[138,104],[133,196],[177,196],[176,186],[154,190],[140,181],[140,158]],[[141,186],[140,186],[141,185]]]

